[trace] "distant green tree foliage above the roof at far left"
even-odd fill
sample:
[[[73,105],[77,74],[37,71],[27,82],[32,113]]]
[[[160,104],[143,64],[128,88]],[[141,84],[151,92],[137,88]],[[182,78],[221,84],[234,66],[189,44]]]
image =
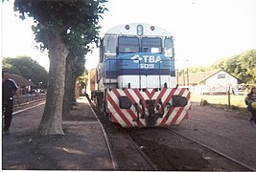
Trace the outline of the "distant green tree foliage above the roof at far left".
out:
[[[17,56],[16,58],[3,58],[2,68],[14,75],[22,75],[31,79],[37,86],[47,87],[48,73],[30,56]],[[39,82],[42,82],[39,84]]]

